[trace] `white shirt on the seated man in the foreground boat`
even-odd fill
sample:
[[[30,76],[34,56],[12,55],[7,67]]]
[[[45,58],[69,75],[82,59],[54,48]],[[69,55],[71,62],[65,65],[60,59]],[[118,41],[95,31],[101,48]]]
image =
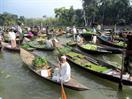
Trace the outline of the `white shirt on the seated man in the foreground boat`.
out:
[[[60,67],[60,79],[63,82],[68,82],[71,78],[71,67],[69,63],[65,62],[61,64]]]

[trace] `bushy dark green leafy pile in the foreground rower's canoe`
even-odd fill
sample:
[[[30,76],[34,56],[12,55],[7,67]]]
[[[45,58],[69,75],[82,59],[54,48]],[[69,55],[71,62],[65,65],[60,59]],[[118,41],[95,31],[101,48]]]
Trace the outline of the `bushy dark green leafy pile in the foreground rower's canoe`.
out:
[[[47,59],[45,57],[40,57],[40,56],[36,56],[32,61],[32,63],[36,70],[42,69],[44,67],[47,68],[48,66]]]

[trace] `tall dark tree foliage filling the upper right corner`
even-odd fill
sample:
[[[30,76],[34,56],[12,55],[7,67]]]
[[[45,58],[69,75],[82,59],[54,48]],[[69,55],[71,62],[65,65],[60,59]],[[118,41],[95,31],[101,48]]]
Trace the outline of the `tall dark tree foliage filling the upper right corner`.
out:
[[[119,24],[120,19],[132,22],[128,15],[132,12],[130,0],[83,0],[83,8],[88,24],[95,21],[106,25]]]

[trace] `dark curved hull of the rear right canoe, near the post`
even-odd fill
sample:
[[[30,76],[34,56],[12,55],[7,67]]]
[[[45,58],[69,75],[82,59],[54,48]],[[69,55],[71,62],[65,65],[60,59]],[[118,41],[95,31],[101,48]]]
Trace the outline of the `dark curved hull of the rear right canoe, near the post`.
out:
[[[100,42],[101,44],[108,45],[108,46],[112,46],[112,47],[116,47],[116,48],[124,48],[123,46],[116,45],[116,44],[114,44],[114,43],[111,42],[111,41],[106,41],[105,39],[103,39],[103,38],[100,37],[100,36],[97,36],[97,38],[98,38],[98,40],[99,40],[99,42]],[[126,48],[126,47],[125,47],[125,48]]]

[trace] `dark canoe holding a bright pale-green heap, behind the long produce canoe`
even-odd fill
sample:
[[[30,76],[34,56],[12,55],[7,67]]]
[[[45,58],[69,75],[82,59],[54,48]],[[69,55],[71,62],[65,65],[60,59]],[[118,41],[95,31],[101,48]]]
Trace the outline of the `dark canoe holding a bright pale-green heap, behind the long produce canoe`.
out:
[[[111,54],[111,51],[107,51],[105,49],[102,49],[101,46],[97,46],[95,44],[83,44],[83,45],[78,45],[78,48],[81,51],[84,51],[89,54]]]

